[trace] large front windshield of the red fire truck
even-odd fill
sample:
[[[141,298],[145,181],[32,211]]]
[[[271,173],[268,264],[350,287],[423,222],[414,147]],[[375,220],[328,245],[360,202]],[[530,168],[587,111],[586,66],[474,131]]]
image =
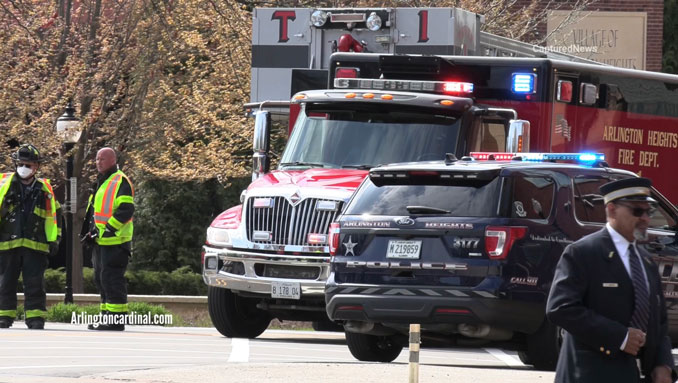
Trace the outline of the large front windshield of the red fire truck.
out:
[[[370,169],[394,162],[433,161],[454,153],[459,115],[402,105],[306,105],[294,125],[281,169]]]

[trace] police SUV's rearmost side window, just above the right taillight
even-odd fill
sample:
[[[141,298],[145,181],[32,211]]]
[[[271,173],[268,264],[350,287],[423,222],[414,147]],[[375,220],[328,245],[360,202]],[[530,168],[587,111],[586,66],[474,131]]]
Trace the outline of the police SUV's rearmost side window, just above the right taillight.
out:
[[[513,177],[511,218],[548,219],[555,182],[548,177]]]

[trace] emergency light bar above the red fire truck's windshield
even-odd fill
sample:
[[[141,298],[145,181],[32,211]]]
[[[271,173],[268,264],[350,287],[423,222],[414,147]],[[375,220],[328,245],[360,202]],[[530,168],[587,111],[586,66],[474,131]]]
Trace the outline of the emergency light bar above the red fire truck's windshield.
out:
[[[471,94],[473,83],[459,81],[412,81],[335,78],[334,87],[339,89],[380,89],[441,94]]]

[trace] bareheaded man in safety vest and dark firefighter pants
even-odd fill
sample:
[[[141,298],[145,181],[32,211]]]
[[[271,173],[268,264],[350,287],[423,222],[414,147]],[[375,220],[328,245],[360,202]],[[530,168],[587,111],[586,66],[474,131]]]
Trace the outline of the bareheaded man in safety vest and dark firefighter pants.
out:
[[[117,156],[111,148],[97,152],[99,177],[90,195],[83,230],[83,241],[93,247],[94,283],[101,295],[101,323],[90,330],[125,329],[127,282],[125,270],[131,254],[134,188],[118,169]]]

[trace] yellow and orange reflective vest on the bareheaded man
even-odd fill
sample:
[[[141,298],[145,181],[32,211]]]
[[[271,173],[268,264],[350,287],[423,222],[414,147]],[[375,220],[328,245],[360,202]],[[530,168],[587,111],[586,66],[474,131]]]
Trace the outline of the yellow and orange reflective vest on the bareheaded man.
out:
[[[132,183],[125,173],[118,170],[111,174],[106,181],[104,181],[94,195],[94,224],[99,229],[99,237],[95,239],[96,243],[103,246],[120,245],[132,240],[132,233],[134,232],[134,224],[130,219],[127,222],[120,222],[113,213],[118,210],[121,203],[134,203],[134,188],[132,187],[132,195],[118,196],[118,190],[122,185],[122,180],[126,179],[132,187]],[[92,196],[89,197],[88,209],[92,205]],[[106,224],[115,229],[115,235],[112,237],[103,237],[106,230]]]

